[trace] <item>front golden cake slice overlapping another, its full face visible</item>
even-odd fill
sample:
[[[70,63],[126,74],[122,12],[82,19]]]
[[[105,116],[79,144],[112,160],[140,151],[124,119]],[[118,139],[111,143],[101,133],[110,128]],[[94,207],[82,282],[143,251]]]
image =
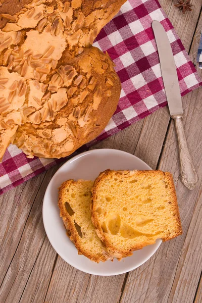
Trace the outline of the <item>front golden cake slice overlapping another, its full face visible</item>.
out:
[[[94,182],[92,204],[97,234],[116,256],[182,233],[168,172],[106,170]]]

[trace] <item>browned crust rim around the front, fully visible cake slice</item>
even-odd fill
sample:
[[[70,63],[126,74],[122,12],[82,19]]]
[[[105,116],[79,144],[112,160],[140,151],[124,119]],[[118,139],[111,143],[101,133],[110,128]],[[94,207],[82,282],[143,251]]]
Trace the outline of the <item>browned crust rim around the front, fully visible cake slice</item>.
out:
[[[105,170],[104,172],[100,173],[99,176],[95,179],[94,181],[94,185],[92,187],[92,222],[96,228],[96,232],[98,237],[105,242],[107,248],[109,249],[109,251],[112,254],[116,254],[117,256],[130,256],[132,251],[135,250],[139,250],[142,249],[145,245],[137,245],[135,244],[134,246],[130,247],[130,250],[126,250],[126,249],[117,249],[117,247],[115,245],[113,245],[113,243],[108,239],[108,237],[106,237],[105,232],[103,231],[99,219],[98,219],[98,214],[95,211],[97,208],[96,205],[96,194],[97,194],[97,189],[99,187],[99,183],[105,181],[108,177],[113,177],[114,174],[121,174],[121,175],[125,175],[125,177],[130,177],[131,174],[134,174],[135,176],[141,176],[144,173],[148,173],[151,175],[156,175],[159,174],[161,176],[164,176],[165,180],[167,180],[167,182],[169,182],[169,184],[172,186],[171,188],[171,192],[172,192],[172,211],[175,213],[175,219],[176,219],[176,225],[177,228],[175,230],[175,233],[172,236],[168,236],[166,238],[162,238],[163,241],[168,241],[173,239],[174,237],[177,237],[178,235],[182,234],[182,226],[181,226],[181,221],[180,221],[180,215],[179,215],[179,210],[178,210],[178,205],[177,205],[177,197],[175,194],[175,186],[174,186],[174,182],[173,182],[173,178],[172,175],[169,172],[162,172],[162,171],[130,171],[130,170],[125,170],[125,171],[113,171],[113,170]],[[151,240],[150,244],[154,244],[155,242],[153,240]]]

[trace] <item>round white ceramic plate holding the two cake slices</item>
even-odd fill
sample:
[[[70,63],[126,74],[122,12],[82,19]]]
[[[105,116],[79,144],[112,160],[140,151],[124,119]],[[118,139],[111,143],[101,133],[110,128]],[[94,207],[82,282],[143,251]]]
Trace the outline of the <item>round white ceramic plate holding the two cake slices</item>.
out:
[[[58,254],[75,268],[93,275],[111,276],[126,273],[146,262],[161,245],[155,244],[133,252],[131,257],[96,264],[77,254],[77,249],[66,235],[63,221],[58,209],[58,187],[68,179],[94,180],[106,169],[150,170],[151,168],[139,158],[117,149],[94,149],[86,151],[67,161],[49,182],[43,199],[43,224],[49,241]]]

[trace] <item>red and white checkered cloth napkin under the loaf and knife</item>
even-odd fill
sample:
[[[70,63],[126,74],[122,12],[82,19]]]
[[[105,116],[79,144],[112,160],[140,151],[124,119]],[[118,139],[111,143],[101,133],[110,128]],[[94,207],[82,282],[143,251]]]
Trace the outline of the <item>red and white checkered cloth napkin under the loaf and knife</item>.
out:
[[[128,0],[94,42],[116,64],[122,91],[118,108],[106,129],[92,145],[164,107],[166,96],[151,22],[158,20],[167,31],[179,78],[181,95],[201,85],[182,42],[157,0]],[[86,146],[80,148],[83,150]],[[80,151],[79,150],[79,151]],[[56,165],[61,160],[27,159],[14,145],[0,164],[0,193]]]

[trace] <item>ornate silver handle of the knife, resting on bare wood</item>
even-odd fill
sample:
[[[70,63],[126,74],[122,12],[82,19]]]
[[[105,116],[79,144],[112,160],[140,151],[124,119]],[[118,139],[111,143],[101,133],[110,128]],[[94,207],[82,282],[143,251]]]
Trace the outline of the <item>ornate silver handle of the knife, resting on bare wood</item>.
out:
[[[180,173],[182,183],[188,189],[194,189],[196,182],[198,180],[195,167],[193,166],[191,156],[186,143],[186,138],[184,134],[184,128],[182,124],[183,115],[173,115],[171,118],[175,121],[175,127],[177,131],[179,151],[180,151]]]

